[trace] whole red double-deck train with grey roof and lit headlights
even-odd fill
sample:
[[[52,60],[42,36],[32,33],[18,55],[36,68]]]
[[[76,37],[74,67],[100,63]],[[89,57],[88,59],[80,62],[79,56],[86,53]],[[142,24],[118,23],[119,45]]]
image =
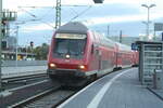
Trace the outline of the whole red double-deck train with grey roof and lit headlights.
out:
[[[61,26],[52,37],[48,75],[61,84],[76,85],[138,64],[138,53],[89,30],[78,22]]]

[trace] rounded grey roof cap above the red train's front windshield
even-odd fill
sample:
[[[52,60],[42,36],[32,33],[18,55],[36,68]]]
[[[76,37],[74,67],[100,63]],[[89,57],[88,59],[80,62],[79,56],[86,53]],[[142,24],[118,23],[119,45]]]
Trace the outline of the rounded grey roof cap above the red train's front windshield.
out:
[[[59,29],[57,29],[57,32],[60,32],[60,33],[67,33],[67,32],[87,33],[87,31],[88,31],[88,27],[79,22],[70,22],[61,26]]]

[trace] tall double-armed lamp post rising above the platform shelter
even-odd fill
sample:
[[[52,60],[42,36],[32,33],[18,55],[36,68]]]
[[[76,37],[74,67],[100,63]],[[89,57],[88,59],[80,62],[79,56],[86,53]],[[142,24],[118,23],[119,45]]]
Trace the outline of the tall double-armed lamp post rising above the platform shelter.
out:
[[[150,5],[141,4],[141,6],[147,8],[147,11],[148,11],[148,17],[147,17],[147,37],[149,38],[150,9],[153,8],[153,6],[156,6],[156,5],[155,4],[150,4]]]

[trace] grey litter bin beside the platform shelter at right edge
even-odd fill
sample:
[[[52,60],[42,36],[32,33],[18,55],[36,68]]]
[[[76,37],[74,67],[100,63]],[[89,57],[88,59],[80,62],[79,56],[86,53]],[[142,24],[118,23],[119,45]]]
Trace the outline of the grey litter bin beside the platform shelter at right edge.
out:
[[[163,89],[163,71],[162,70],[154,70],[153,87],[158,90]]]

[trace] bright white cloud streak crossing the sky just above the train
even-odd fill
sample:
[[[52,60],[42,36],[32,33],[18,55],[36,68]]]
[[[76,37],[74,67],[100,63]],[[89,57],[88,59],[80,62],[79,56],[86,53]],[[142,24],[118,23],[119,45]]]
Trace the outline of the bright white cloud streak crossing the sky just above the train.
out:
[[[162,18],[163,14],[161,13],[152,13],[150,14],[150,19],[154,21],[154,19],[159,19]],[[134,14],[134,15],[112,15],[112,16],[101,16],[101,17],[85,17],[77,19],[79,22],[84,22],[87,26],[93,26],[93,25],[100,25],[100,24],[106,24],[106,23],[128,23],[128,22],[142,22],[142,21],[147,21],[147,14]],[[63,22],[61,25],[65,24],[66,22]],[[54,23],[49,23],[50,25],[54,25]],[[24,32],[33,32],[33,31],[38,31],[38,30],[53,30],[52,27],[39,23],[39,24],[35,24],[35,25],[27,25],[27,26],[23,26],[22,30]]]

